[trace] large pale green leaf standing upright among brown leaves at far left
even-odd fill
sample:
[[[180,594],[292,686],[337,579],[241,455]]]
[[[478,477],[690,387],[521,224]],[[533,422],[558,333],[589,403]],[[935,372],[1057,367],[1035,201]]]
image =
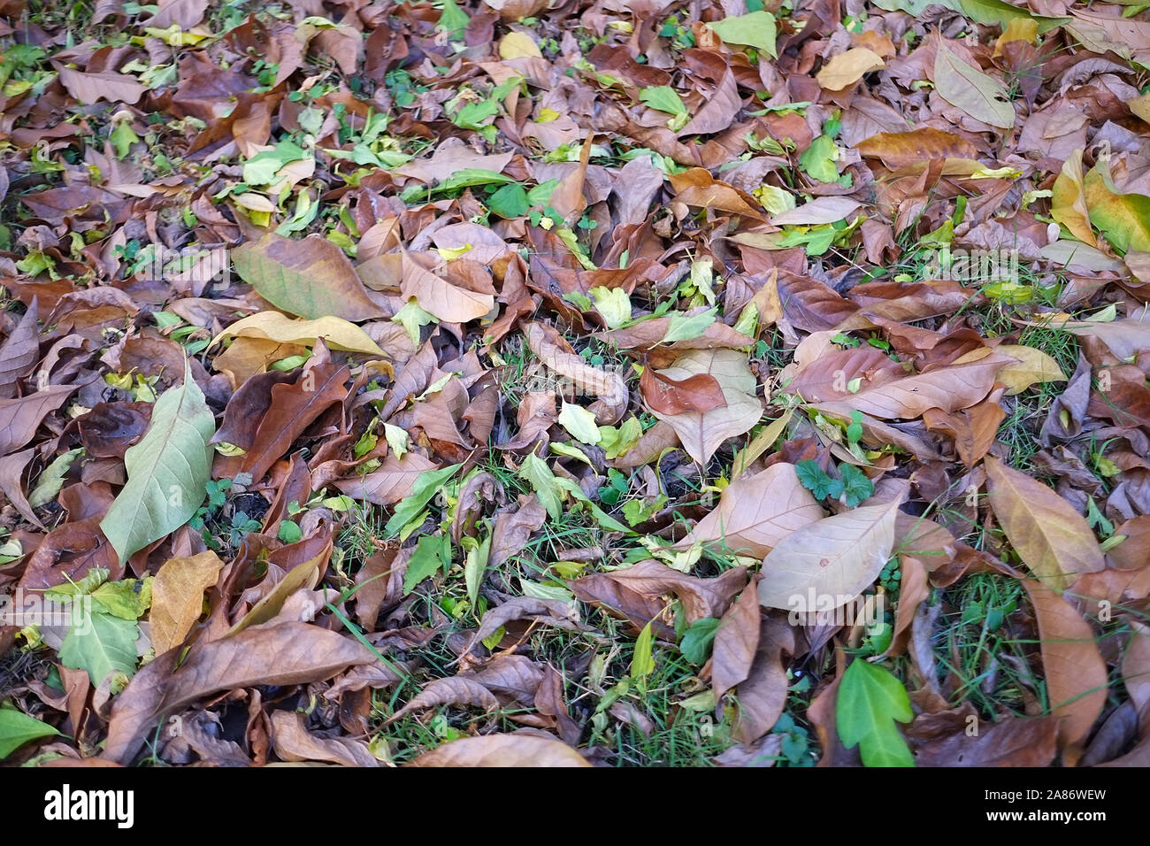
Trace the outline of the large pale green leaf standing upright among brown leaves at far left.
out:
[[[100,521],[121,564],[195,513],[212,477],[214,434],[215,414],[185,360],[183,383],[163,392],[147,433],[124,454],[128,483]]]

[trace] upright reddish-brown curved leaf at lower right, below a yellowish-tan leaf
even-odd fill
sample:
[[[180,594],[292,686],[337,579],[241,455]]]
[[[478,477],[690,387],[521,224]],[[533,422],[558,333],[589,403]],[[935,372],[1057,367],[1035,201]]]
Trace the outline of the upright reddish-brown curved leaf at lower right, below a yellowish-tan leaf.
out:
[[[1059,719],[1058,746],[1081,746],[1106,704],[1106,662],[1094,630],[1061,596],[1030,579],[1022,581],[1038,620],[1043,678]]]

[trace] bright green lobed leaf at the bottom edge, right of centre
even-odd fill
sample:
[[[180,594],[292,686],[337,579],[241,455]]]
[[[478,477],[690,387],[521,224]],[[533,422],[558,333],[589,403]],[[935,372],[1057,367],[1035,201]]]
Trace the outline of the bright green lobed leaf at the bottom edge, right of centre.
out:
[[[895,721],[914,718],[906,688],[888,670],[856,658],[838,685],[838,739],[848,749],[858,745],[866,767],[913,767],[906,740]]]

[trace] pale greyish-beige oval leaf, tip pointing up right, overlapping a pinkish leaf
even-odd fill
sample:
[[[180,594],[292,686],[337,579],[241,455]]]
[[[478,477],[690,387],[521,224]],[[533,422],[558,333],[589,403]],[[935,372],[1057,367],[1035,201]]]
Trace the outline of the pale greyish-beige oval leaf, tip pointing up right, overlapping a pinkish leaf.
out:
[[[890,559],[897,516],[897,500],[861,505],[788,535],[762,562],[759,602],[800,612],[850,602]]]

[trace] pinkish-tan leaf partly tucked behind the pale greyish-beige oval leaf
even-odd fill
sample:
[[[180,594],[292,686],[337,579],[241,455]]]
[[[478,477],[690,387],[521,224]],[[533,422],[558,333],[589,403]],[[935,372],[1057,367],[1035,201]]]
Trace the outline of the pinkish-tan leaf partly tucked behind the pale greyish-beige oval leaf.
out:
[[[761,558],[788,535],[825,516],[798,480],[795,465],[780,462],[723,488],[718,506],[695,524],[675,548],[714,541],[736,555]]]

